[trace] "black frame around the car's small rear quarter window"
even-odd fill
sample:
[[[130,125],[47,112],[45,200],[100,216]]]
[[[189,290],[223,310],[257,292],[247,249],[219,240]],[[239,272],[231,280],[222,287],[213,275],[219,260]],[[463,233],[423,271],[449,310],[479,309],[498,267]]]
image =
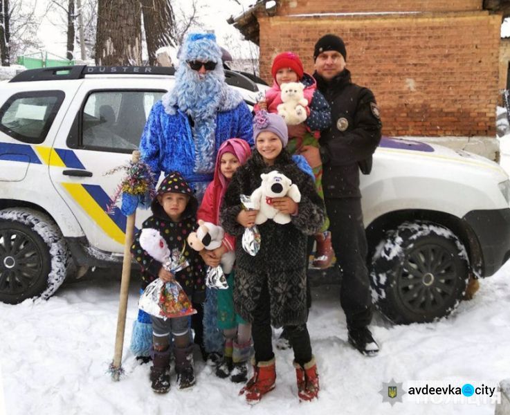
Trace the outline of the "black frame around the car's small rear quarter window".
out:
[[[57,98],[57,101],[53,105],[53,109],[51,110],[48,119],[44,123],[41,133],[39,134],[39,137],[35,138],[24,136],[23,134],[17,133],[16,131],[9,129],[8,127],[6,127],[6,125],[2,124],[1,120],[3,116],[5,116],[8,109],[10,109],[13,102],[24,98],[46,98],[46,97]],[[42,144],[42,142],[46,140],[48,132],[50,131],[51,126],[53,125],[53,121],[55,121],[58,111],[60,111],[60,107],[62,107],[62,102],[64,102],[65,98],[66,94],[64,93],[64,91],[60,89],[51,89],[48,91],[24,91],[17,92],[11,95],[8,98],[8,100],[6,100],[6,102],[4,102],[3,105],[0,107],[0,131],[6,133],[9,137],[12,137],[15,140],[24,142],[26,144]]]

